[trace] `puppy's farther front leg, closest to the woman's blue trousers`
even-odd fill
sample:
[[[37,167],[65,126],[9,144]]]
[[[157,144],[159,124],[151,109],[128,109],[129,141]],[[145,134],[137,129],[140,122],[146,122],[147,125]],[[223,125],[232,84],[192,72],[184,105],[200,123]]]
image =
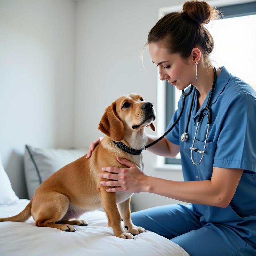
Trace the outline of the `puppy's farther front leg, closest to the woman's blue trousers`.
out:
[[[146,230],[142,227],[137,227],[132,223],[131,220],[131,208],[130,208],[131,197],[125,200],[123,203],[118,204],[118,210],[121,214],[121,217],[124,221],[124,227],[129,233],[132,233],[134,236],[138,235]]]

